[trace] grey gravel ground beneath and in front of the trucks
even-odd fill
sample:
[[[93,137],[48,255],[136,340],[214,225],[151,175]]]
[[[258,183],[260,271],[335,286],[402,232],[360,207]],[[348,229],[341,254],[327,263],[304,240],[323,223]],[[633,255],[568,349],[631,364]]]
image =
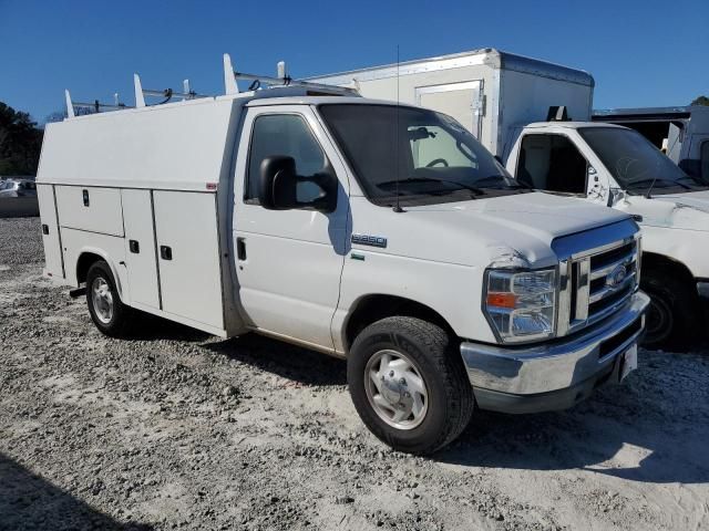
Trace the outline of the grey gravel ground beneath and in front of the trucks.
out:
[[[709,529],[709,356],[641,351],[573,410],[476,413],[432,458],[359,421],[345,363],[146,317],[102,336],[0,219],[0,529]]]

